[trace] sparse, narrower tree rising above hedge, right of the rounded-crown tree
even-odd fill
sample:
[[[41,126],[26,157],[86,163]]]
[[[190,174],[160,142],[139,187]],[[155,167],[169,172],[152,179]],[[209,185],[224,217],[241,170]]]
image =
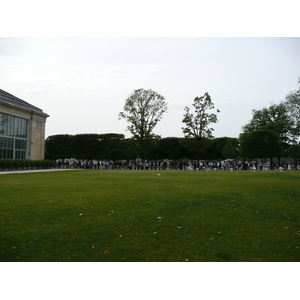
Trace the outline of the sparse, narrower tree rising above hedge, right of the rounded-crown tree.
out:
[[[217,123],[218,118],[214,113],[208,113],[210,109],[214,109],[214,104],[211,101],[211,97],[208,93],[205,93],[202,97],[196,97],[192,104],[195,108],[195,115],[190,113],[190,109],[185,107],[185,114],[182,123],[185,123],[185,127],[182,127],[185,137],[196,138],[201,140],[203,137],[212,138],[213,128],[209,128],[209,124]],[[217,109],[217,112],[220,112]]]

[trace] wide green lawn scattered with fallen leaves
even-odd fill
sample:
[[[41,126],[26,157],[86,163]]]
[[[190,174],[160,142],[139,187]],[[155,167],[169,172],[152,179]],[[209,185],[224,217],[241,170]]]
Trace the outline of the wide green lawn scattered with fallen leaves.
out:
[[[0,261],[300,261],[299,195],[299,171],[0,175]]]

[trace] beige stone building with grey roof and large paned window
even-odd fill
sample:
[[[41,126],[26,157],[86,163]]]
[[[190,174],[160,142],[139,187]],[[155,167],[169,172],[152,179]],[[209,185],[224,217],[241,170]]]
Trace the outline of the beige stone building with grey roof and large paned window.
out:
[[[0,89],[0,159],[44,159],[48,117],[40,108]]]

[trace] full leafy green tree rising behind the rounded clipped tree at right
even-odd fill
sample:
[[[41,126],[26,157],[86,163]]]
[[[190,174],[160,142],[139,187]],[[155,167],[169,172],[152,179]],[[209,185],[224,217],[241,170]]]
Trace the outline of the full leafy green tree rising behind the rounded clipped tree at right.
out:
[[[284,103],[271,103],[270,107],[253,110],[252,120],[242,127],[244,133],[257,130],[274,130],[279,134],[279,140],[287,153],[289,146],[295,142],[295,125],[288,115]]]

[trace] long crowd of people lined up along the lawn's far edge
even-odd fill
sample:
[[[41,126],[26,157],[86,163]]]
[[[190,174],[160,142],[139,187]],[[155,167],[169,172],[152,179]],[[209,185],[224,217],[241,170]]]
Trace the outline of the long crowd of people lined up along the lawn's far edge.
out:
[[[118,160],[118,161],[100,161],[100,160],[77,160],[77,159],[59,159],[56,161],[59,169],[81,168],[81,169],[116,169],[116,170],[275,170],[282,168],[286,170],[299,169],[298,162],[292,165],[290,161],[277,164],[274,160],[267,163],[262,161],[241,161],[226,159],[222,161],[203,161],[203,160],[156,160],[142,161],[136,160]]]

